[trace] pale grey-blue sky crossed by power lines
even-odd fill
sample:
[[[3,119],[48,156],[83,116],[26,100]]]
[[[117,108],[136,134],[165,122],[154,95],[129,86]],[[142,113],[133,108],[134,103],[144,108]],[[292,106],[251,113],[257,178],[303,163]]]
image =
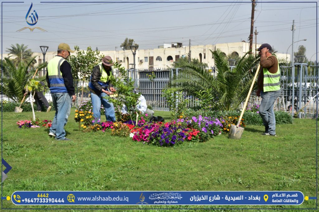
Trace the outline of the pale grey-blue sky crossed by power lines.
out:
[[[16,0],[15,2],[18,2]],[[8,1],[9,2],[9,1]],[[279,53],[292,53],[306,47],[308,59],[316,60],[316,1],[257,0],[255,27],[257,43],[269,43]],[[31,26],[26,14],[36,11],[36,24]],[[125,38],[132,38],[139,49],[153,49],[164,43],[206,45],[249,42],[251,1],[24,1],[2,2],[2,51],[12,44],[25,44],[41,52],[40,45],[56,51],[58,44],[67,43],[80,49],[91,46],[100,51],[119,50]],[[34,12],[33,12],[34,13]],[[29,14],[30,15],[30,14]],[[33,22],[35,23],[35,22]],[[39,27],[32,32],[24,27]],[[307,39],[303,41],[303,39]],[[254,41],[255,43],[255,35]]]

